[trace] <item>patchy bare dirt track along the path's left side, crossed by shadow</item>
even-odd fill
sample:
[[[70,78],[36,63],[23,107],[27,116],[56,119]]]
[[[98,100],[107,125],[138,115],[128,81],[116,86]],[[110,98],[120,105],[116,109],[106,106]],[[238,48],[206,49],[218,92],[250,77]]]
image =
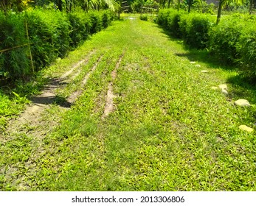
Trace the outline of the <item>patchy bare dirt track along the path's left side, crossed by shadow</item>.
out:
[[[52,79],[50,83],[45,86],[41,95],[32,97],[32,105],[28,106],[24,112],[21,113],[21,116],[10,121],[6,129],[6,135],[4,135],[4,138],[1,138],[1,143],[13,141],[15,138],[18,138],[19,135],[28,135],[32,137],[30,144],[32,145],[33,151],[31,152],[30,159],[26,162],[15,163],[1,169],[1,173],[5,174],[7,182],[11,182],[11,185],[15,186],[18,190],[28,191],[32,185],[36,186],[36,182],[30,182],[27,184],[25,180],[27,177],[35,175],[37,161],[46,152],[43,143],[44,137],[56,126],[56,124],[58,124],[58,120],[54,120],[54,122],[52,122],[52,120],[44,118],[44,115],[46,115],[46,109],[55,101],[55,90],[61,88],[63,83],[65,83],[65,80],[75,79],[75,77],[80,74],[80,71],[73,75],[71,74],[81,65],[88,63],[89,57],[91,57],[92,54],[94,54],[94,51],[91,51],[84,60],[73,65],[72,68],[70,68],[69,71],[66,71],[66,73],[60,78]],[[94,68],[92,68],[91,71],[94,71],[96,67],[97,65],[94,65]],[[66,77],[69,78],[66,79]],[[88,79],[89,75],[87,74],[83,79],[82,85],[85,85]],[[64,107],[58,105],[59,113],[55,118],[59,118],[60,113],[65,112],[64,109]],[[34,129],[30,129],[32,127],[34,127]],[[27,173],[21,175],[22,172],[19,171],[24,168],[26,168]]]

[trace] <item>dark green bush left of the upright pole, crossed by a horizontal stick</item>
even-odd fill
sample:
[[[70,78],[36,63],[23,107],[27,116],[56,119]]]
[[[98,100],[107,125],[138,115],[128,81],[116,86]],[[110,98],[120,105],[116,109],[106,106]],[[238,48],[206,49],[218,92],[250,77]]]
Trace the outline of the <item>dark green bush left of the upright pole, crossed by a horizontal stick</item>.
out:
[[[21,15],[0,13],[0,77],[9,79],[25,77],[30,71],[27,58],[28,49],[26,30]],[[15,48],[15,49],[14,49]]]

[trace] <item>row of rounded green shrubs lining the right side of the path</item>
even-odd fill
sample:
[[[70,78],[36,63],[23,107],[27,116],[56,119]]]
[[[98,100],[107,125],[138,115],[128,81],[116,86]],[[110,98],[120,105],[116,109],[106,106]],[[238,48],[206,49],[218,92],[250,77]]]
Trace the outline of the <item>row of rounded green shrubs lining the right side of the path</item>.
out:
[[[207,48],[215,57],[240,65],[242,74],[256,79],[256,17],[235,14],[222,18],[177,10],[160,10],[156,22],[175,38],[196,49]]]

